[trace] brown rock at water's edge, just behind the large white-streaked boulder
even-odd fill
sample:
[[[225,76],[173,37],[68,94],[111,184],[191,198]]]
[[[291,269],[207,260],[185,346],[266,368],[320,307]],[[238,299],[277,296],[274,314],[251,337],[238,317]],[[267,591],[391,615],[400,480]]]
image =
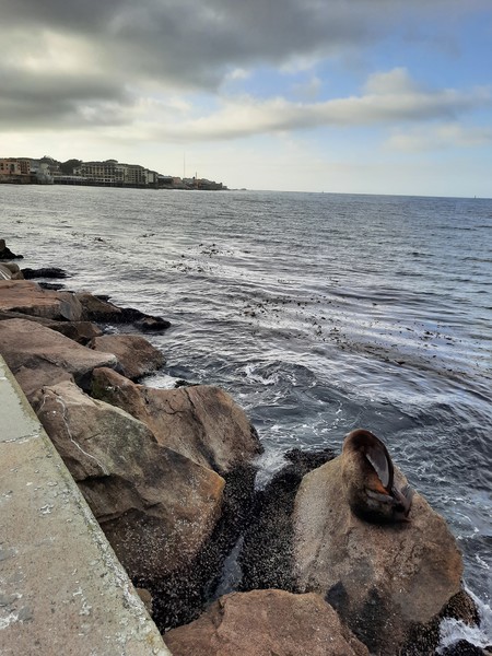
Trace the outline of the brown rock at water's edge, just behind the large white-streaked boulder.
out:
[[[260,453],[245,412],[218,387],[152,389],[109,370],[94,374],[96,398],[124,408],[143,421],[160,444],[198,465],[224,475]]]

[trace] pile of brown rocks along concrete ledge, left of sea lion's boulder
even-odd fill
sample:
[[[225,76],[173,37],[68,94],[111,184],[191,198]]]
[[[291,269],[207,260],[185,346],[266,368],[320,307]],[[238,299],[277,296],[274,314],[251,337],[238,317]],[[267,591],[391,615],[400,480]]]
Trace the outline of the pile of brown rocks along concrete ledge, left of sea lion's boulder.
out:
[[[87,293],[0,280],[0,353],[164,630],[199,613],[260,445],[218,388],[137,385],[164,356],[134,332],[104,333],[127,323],[168,326]]]

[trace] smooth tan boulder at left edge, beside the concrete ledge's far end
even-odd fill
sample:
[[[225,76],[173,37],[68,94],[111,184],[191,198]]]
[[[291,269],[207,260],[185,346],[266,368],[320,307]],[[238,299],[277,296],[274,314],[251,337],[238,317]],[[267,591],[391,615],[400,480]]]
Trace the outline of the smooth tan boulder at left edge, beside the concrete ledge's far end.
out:
[[[27,319],[0,321],[0,353],[27,398],[72,377],[87,388],[94,368],[118,366],[113,353],[98,353]]]

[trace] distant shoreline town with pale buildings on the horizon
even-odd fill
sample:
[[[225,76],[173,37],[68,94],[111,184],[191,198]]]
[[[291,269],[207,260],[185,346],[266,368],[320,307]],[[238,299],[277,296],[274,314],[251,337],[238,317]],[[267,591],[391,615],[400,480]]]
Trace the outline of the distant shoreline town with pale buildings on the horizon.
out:
[[[17,185],[89,185],[94,187],[132,187],[141,189],[227,189],[222,183],[204,178],[162,175],[139,164],[117,160],[58,162],[49,156],[0,159],[0,184]]]

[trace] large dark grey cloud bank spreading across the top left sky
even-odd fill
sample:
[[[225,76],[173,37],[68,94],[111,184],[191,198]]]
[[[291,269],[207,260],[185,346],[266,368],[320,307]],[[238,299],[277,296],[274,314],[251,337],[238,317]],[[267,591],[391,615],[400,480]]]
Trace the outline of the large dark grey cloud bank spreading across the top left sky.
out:
[[[469,0],[468,8],[478,1]],[[109,117],[101,110],[108,104],[115,122],[124,121],[142,89],[212,91],[233,68],[361,48],[409,4],[415,13],[460,3],[3,0],[0,127],[60,120],[77,126],[81,117],[104,122]]]

